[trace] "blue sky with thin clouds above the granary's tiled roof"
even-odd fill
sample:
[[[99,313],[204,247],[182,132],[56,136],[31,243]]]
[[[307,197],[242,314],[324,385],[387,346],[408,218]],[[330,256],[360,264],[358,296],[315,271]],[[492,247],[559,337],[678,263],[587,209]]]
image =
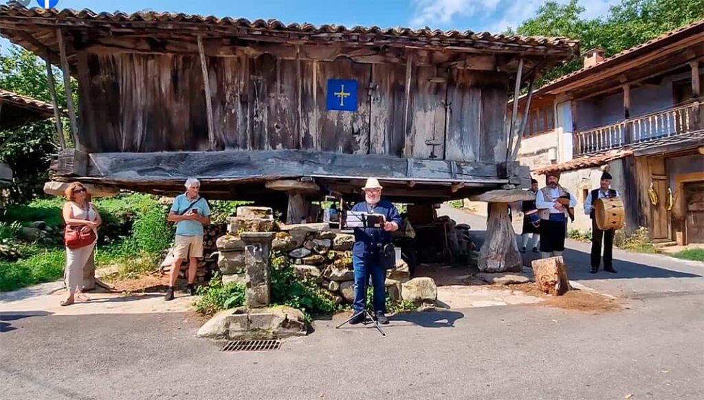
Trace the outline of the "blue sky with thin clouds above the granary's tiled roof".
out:
[[[0,0],[5,1],[5,0]],[[381,27],[424,27],[442,30],[501,32],[535,14],[544,0],[59,0],[57,8],[132,13],[179,11],[190,14],[276,18],[283,22],[311,22]],[[567,2],[567,0],[558,0]],[[617,0],[580,0],[586,15],[603,15]],[[32,0],[32,5],[36,0]]]

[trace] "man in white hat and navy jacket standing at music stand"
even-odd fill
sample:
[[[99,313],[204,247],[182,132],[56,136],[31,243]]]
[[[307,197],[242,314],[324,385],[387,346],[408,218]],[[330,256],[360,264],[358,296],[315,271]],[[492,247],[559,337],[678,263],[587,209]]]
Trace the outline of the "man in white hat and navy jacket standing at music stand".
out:
[[[379,323],[389,323],[386,318],[386,269],[380,262],[381,249],[391,243],[391,232],[397,231],[401,226],[401,216],[398,209],[389,201],[382,200],[382,186],[378,179],[367,179],[363,187],[365,201],[358,202],[352,208],[353,212],[367,212],[384,215],[383,228],[355,228],[355,243],[352,249],[352,262],[354,265],[355,299],[354,312],[358,314],[350,323],[364,321],[364,311],[367,306],[367,282],[372,276],[374,288],[374,315]]]

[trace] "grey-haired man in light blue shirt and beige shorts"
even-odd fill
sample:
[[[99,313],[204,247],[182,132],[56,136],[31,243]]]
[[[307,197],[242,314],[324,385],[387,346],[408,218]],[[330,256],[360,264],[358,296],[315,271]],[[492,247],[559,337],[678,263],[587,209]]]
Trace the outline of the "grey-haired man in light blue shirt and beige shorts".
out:
[[[167,218],[167,221],[176,223],[174,264],[171,268],[169,288],[164,297],[167,302],[174,299],[174,286],[185,259],[189,260],[189,294],[191,296],[196,294],[194,283],[198,271],[198,259],[203,258],[203,226],[210,224],[208,201],[199,195],[201,183],[198,179],[189,178],[185,186],[186,193],[176,196]]]

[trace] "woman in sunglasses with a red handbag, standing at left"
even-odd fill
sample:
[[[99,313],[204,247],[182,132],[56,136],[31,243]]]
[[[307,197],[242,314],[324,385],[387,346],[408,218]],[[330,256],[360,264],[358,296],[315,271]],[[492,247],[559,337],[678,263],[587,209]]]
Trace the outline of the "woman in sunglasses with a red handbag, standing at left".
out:
[[[70,306],[75,298],[87,299],[82,294],[83,268],[93,253],[98,240],[97,229],[102,220],[81,183],[71,183],[65,193],[68,201],[63,204],[63,221],[66,224],[63,240],[66,245],[65,282],[68,297],[61,305]]]

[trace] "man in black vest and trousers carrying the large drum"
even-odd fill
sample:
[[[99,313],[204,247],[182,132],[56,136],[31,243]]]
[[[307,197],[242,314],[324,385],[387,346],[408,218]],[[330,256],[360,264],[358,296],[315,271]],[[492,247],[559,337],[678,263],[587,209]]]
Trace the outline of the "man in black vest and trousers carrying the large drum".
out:
[[[594,202],[600,198],[620,198],[621,196],[615,190],[610,188],[611,174],[604,172],[601,175],[599,188],[589,192],[584,200],[584,214],[591,218],[591,273],[599,271],[601,264],[601,243],[604,243],[604,271],[616,273],[612,265],[613,247],[614,247],[614,230],[602,231],[596,224],[594,217]]]

